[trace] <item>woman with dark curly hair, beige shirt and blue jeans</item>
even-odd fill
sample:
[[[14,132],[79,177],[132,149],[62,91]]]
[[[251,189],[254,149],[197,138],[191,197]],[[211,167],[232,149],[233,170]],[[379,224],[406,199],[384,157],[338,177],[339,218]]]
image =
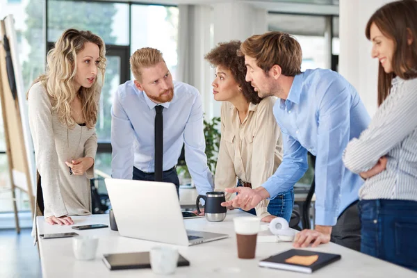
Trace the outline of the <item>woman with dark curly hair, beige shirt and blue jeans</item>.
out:
[[[211,84],[214,99],[223,101],[216,190],[235,187],[236,179],[238,186],[261,186],[282,161],[281,131],[272,113],[276,99],[261,99],[245,81],[245,58],[237,56],[238,49],[238,40],[223,42],[204,57],[215,67]],[[231,199],[231,195],[226,199]],[[293,204],[293,190],[288,190],[275,199],[264,200],[249,212],[263,222],[277,216],[289,221]]]

